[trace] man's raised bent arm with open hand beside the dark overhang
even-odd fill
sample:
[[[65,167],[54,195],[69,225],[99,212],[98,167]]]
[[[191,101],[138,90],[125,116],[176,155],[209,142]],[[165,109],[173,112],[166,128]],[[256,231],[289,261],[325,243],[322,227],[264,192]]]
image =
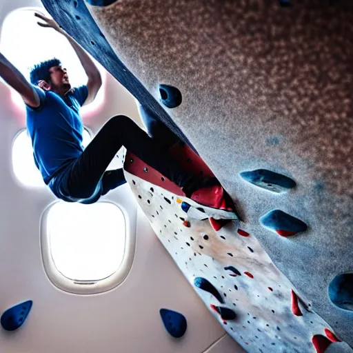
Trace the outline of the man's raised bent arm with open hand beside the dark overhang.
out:
[[[97,69],[96,65],[94,65],[94,62],[90,59],[88,54],[79,46],[79,44],[74,41],[63,29],[60,28],[57,22],[55,22],[53,19],[48,19],[48,17],[45,17],[43,14],[35,13],[35,16],[37,16],[39,19],[42,19],[45,23],[40,23],[38,22],[39,26],[41,27],[48,27],[48,28],[53,28],[57,32],[63,34],[70,44],[72,45],[72,48],[74,48],[74,51],[77,54],[77,57],[79,57],[79,61],[81,61],[81,65],[83,66],[83,69],[85,70],[85,73],[87,74],[88,77],[88,82],[87,82],[87,88],[88,88],[88,97],[85,100],[85,103],[83,105],[86,105],[88,103],[91,103],[94,101],[94,98],[96,97],[99,88],[101,88],[102,85],[102,79],[101,79],[101,74],[99,73],[99,70]]]

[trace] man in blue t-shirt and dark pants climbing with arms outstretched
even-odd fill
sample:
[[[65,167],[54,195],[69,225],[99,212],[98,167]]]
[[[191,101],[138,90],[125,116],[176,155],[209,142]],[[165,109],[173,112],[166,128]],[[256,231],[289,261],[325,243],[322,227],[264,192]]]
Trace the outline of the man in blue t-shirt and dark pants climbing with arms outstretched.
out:
[[[44,182],[67,202],[94,203],[101,195],[125,183],[123,170],[106,171],[121,146],[152,168],[177,183],[186,196],[207,185],[206,193],[219,194],[220,185],[199,181],[181,169],[176,161],[148,137],[131,119],[110,119],[85,150],[82,148],[82,122],[79,108],[91,103],[101,87],[101,75],[88,54],[52,19],[39,26],[53,28],[70,41],[88,77],[87,85],[71,88],[68,73],[58,59],[35,65],[28,83],[0,53],[0,76],[17,90],[26,103],[27,127],[32,139],[34,161]],[[212,197],[214,199],[214,196]]]

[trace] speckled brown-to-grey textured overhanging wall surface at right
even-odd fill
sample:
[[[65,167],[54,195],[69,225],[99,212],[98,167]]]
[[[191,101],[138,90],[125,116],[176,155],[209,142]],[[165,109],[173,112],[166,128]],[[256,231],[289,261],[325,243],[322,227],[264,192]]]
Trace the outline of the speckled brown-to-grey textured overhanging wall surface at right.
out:
[[[154,99],[160,84],[180,90],[181,105],[165,111],[299,296],[353,346],[353,3],[291,2],[121,0],[89,9]],[[295,187],[274,192],[241,176],[259,169]],[[263,218],[273,210],[307,229],[281,236]],[[343,273],[335,283],[344,298],[330,293],[332,303],[329,285]]]

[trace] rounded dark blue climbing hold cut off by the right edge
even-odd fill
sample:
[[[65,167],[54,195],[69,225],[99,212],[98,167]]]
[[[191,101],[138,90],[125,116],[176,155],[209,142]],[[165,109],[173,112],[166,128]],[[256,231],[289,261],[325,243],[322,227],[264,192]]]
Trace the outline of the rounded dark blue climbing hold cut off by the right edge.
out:
[[[353,273],[334,277],[328,286],[328,296],[336,307],[353,312]]]

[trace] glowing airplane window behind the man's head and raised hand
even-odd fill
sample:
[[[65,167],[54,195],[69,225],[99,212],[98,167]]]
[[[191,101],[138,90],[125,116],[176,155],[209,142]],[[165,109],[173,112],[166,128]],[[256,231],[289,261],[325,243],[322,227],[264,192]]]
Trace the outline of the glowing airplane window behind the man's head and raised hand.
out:
[[[35,11],[50,17],[50,14],[42,8],[37,10],[33,8],[20,9],[8,14],[1,29],[0,51],[28,81],[30,81],[30,69],[35,64],[56,57],[61,61],[63,68],[68,70],[72,87],[87,83],[85,71],[68,40],[52,28],[38,26],[37,21],[41,20],[34,17]],[[94,59],[93,61],[101,72],[103,83],[96,99],[85,105],[82,112],[85,110],[92,112],[104,100],[106,72],[97,61]],[[1,79],[1,81],[3,80]],[[24,111],[26,108],[20,95],[12,88],[10,90],[12,91],[12,101]]]

